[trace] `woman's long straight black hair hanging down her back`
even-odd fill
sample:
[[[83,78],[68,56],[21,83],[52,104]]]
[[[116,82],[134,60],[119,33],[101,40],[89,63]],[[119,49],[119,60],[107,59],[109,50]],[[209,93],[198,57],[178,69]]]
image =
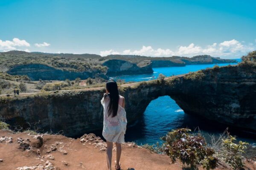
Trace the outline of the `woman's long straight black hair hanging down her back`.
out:
[[[106,83],[106,89],[108,90],[110,97],[110,102],[107,108],[108,116],[115,117],[118,111],[118,102],[119,102],[119,91],[117,88],[117,84],[114,80]]]

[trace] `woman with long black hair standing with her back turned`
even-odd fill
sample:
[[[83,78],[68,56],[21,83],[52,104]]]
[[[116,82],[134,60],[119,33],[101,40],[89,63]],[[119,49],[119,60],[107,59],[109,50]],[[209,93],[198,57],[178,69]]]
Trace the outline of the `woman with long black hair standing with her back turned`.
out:
[[[116,170],[120,170],[121,144],[125,142],[125,98],[119,95],[115,81],[107,82],[106,93],[101,100],[104,109],[102,135],[107,141],[107,164],[111,170],[113,142],[116,143]]]

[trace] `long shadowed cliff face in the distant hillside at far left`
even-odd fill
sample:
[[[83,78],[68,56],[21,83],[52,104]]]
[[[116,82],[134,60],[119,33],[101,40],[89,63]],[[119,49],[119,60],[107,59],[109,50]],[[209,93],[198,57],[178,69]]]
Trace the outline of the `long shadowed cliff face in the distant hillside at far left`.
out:
[[[34,80],[65,80],[70,79],[74,80],[77,77],[81,79],[87,79],[89,77],[93,78],[96,75],[102,78],[107,79],[108,77],[101,73],[92,73],[92,72],[72,72],[72,71],[63,71],[47,65],[42,64],[29,64],[29,65],[18,65],[14,68],[7,71],[8,74],[12,75],[28,75],[28,77]]]

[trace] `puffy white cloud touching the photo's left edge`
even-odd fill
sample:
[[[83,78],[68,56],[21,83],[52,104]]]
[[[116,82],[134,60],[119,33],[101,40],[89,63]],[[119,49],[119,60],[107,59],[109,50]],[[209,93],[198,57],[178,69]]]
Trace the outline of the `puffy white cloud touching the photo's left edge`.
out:
[[[30,44],[26,40],[20,40],[18,38],[14,38],[12,41],[0,40],[0,50],[2,51],[16,50],[16,47],[30,47]]]

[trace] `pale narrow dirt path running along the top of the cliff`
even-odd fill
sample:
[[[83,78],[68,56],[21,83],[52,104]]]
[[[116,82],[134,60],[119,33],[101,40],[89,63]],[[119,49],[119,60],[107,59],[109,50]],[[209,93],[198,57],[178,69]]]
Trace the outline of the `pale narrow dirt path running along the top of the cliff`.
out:
[[[186,74],[180,74],[180,75],[177,75],[175,77],[182,77]],[[169,79],[171,77],[166,77],[165,79]],[[148,80],[148,81],[152,81],[152,80]],[[145,81],[145,82],[148,82],[148,81]],[[138,85],[140,84],[141,82],[134,82],[134,83],[128,83],[128,84],[123,84],[123,85],[119,85],[119,86],[133,86],[133,85]],[[73,89],[73,90],[59,90],[59,92],[61,91],[88,91],[88,90],[100,90],[102,88],[105,88],[105,87],[98,87],[98,88],[81,88],[81,89]],[[48,92],[56,92],[56,91],[48,91]],[[34,92],[34,93],[20,93],[19,95],[20,96],[25,96],[25,95],[32,95],[32,94],[38,94],[40,92]],[[14,96],[14,94],[9,94],[10,96]],[[0,96],[6,96],[6,94],[0,94]]]

